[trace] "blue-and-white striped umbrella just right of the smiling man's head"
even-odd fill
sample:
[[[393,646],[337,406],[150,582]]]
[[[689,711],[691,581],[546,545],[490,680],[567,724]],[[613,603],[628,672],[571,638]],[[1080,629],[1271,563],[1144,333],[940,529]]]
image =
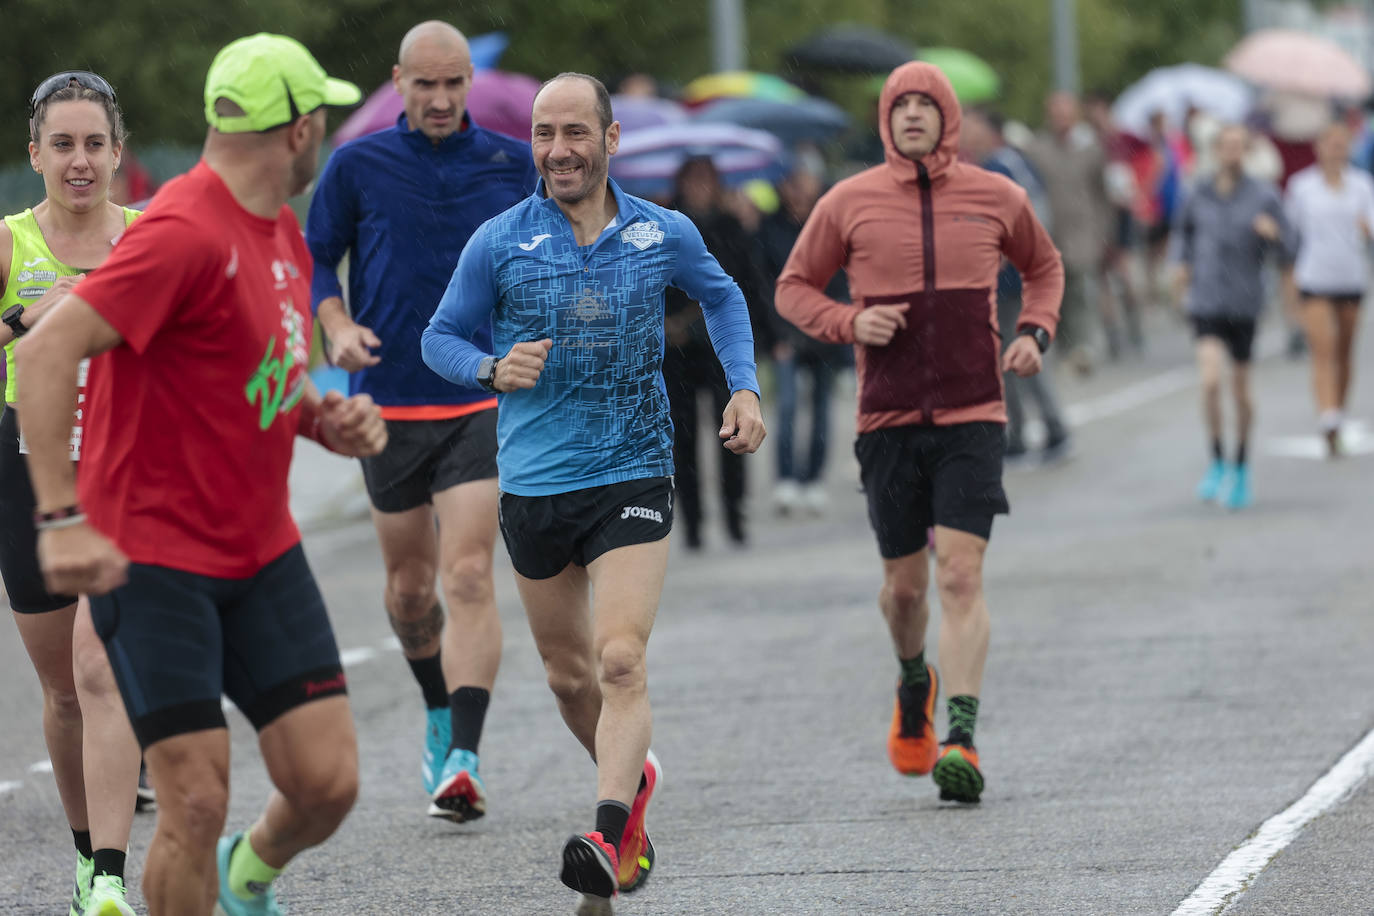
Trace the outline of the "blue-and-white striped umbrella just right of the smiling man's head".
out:
[[[786,168],[782,141],[771,133],[732,124],[687,122],[627,132],[610,159],[610,176],[631,194],[664,195],[691,157],[710,157],[730,185],[778,180]]]

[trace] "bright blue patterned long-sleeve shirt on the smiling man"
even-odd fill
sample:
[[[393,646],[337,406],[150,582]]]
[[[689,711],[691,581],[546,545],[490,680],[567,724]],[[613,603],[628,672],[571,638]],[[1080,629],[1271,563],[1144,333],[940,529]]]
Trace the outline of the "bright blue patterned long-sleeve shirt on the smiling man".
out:
[[[500,396],[500,486],[550,496],[673,472],[664,387],[664,288],[701,302],[731,391],[758,393],[745,297],[676,210],[610,183],[617,216],[578,247],[558,202],[534,194],[463,249],[425,331],[425,361],[480,387],[484,356],[521,341],[554,346],[533,389]],[[492,325],[493,350],[481,332]]]

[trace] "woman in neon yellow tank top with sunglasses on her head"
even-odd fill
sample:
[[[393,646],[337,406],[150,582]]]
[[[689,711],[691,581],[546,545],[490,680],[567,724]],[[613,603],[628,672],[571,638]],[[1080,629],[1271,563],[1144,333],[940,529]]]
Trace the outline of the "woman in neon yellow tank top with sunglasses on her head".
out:
[[[55,302],[109,257],[135,216],[110,202],[124,118],[114,89],[93,73],[44,80],[30,100],[29,158],[47,198],[0,225],[0,342],[7,356]],[[23,645],[43,687],[43,732],[77,842],[73,916],[132,916],[124,900],[139,777],[139,746],[104,647],[82,599],[43,586],[33,530],[33,490],[21,455],[8,360],[0,417],[0,573]],[[77,416],[80,426],[80,411]],[[73,433],[73,459],[80,433]],[[87,766],[82,766],[82,757]]]

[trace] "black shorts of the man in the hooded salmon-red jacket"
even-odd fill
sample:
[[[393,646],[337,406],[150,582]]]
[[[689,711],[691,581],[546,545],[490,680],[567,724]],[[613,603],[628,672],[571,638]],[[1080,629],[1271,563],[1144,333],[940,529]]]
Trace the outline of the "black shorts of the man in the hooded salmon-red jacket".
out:
[[[868,520],[885,559],[926,547],[943,525],[987,540],[992,516],[1010,511],[1002,489],[1002,423],[893,426],[855,441]]]

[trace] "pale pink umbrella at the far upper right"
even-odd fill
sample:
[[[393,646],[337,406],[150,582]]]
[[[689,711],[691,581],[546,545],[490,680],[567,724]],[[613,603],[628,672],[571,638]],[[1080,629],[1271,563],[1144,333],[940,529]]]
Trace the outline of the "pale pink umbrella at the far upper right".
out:
[[[1260,29],[1226,55],[1226,69],[1268,89],[1364,99],[1370,74],[1341,45],[1293,29]]]

